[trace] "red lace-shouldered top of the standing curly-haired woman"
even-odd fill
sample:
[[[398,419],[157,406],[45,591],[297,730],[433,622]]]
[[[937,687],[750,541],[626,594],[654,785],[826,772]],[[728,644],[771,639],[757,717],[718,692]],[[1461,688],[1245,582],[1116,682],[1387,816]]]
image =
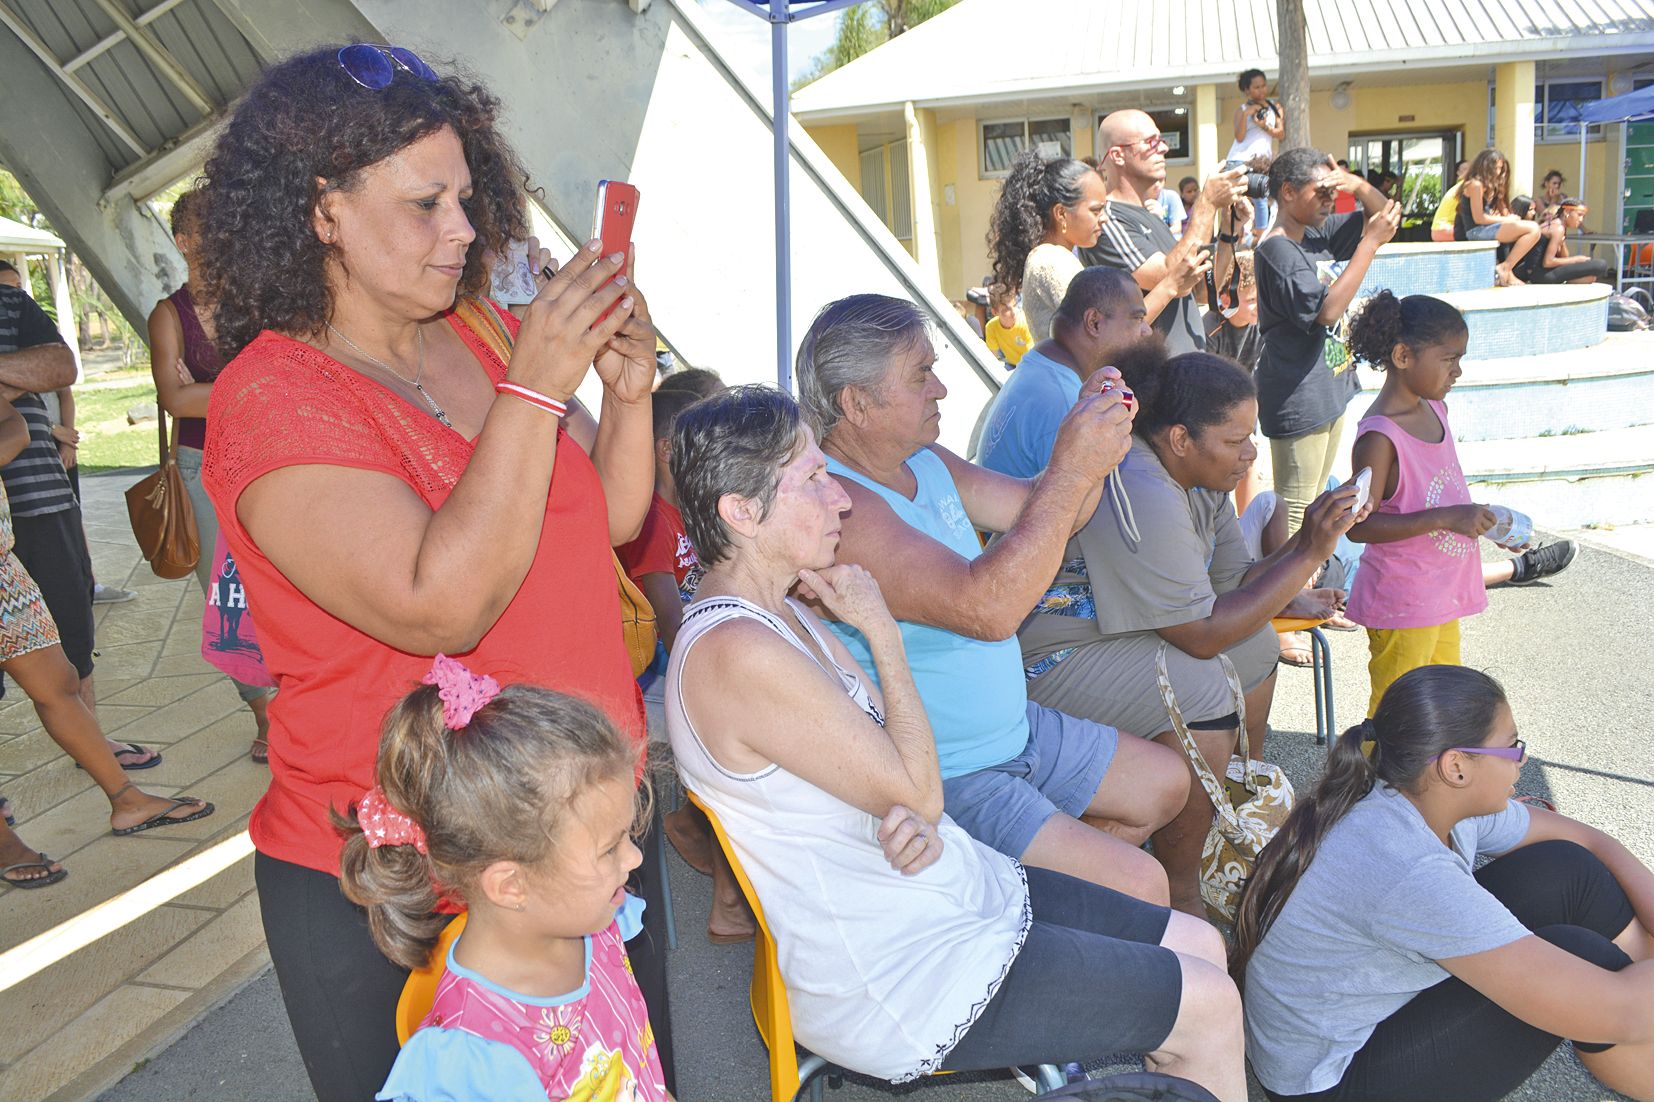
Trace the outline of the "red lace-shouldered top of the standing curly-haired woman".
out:
[[[506,318],[514,334],[516,319]],[[453,316],[448,321],[490,379],[504,379],[506,366],[476,334]],[[533,682],[584,697],[642,740],[642,697],[620,637],[602,483],[586,452],[557,432],[546,523],[528,577],[476,649],[457,657],[501,683]],[[341,842],[327,809],[344,811],[372,784],[380,721],[425,675],[430,655],[389,647],[313,604],[251,543],[237,500],[273,470],[326,463],[394,475],[437,510],[470,458],[471,442],[458,432],[276,333],[261,333],[213,384],[202,480],[246,582],[278,687],[270,705],[270,791],[250,827],[260,852],[339,874]],[[351,518],[299,515],[293,523]]]

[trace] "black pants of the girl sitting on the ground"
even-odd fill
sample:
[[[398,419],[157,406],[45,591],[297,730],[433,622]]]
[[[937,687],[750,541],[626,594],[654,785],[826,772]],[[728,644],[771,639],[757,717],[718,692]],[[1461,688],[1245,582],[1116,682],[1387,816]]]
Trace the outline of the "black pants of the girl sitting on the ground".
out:
[[[1613,971],[1631,963],[1613,938],[1636,912],[1613,874],[1581,846],[1537,842],[1489,862],[1475,879],[1551,945]],[[1558,1044],[1561,1037],[1449,978],[1381,1021],[1336,1087],[1267,1094],[1275,1102],[1497,1102]],[[1606,1047],[1575,1041],[1581,1052]]]

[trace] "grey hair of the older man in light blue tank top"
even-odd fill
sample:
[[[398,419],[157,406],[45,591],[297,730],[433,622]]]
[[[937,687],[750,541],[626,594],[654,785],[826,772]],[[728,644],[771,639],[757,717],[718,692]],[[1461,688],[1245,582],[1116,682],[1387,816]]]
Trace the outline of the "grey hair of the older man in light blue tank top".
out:
[[[925,314],[905,298],[850,295],[822,306],[799,344],[799,404],[819,442],[844,417],[845,387],[877,400],[895,356],[926,336]]]

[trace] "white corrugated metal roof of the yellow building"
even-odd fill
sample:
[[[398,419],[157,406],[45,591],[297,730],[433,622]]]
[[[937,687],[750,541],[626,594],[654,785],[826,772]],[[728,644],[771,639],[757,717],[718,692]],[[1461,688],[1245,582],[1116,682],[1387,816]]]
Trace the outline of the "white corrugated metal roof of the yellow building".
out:
[[[1654,50],[1654,0],[1305,0],[1315,73]],[[1025,41],[1025,48],[1006,48]],[[961,0],[792,98],[801,117],[915,101],[1234,79],[1274,68],[1275,0]]]

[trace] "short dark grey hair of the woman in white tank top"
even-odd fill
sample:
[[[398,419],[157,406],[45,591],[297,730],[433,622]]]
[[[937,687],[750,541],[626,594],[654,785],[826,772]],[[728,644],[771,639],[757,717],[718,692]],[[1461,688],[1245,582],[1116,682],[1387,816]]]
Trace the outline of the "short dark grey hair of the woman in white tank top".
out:
[[[748,384],[695,402],[672,425],[672,482],[683,528],[701,566],[734,553],[718,503],[726,493],[759,503],[769,516],[781,468],[799,453],[799,404],[776,387]]]

